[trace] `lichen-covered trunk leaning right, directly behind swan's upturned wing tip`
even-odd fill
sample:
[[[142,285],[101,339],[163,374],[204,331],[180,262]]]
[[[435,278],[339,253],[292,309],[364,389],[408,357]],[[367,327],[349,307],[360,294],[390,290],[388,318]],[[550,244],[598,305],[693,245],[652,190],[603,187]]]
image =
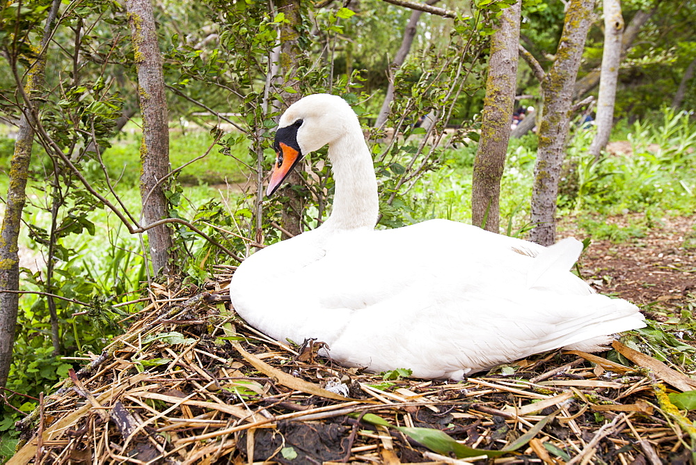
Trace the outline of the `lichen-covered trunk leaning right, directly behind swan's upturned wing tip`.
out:
[[[530,239],[544,246],[555,242],[558,180],[570,126],[574,84],[587,31],[592,25],[593,7],[594,0],[571,0],[568,3],[557,58],[541,83],[545,101],[539,124],[539,150],[532,191],[532,223],[535,226]]]

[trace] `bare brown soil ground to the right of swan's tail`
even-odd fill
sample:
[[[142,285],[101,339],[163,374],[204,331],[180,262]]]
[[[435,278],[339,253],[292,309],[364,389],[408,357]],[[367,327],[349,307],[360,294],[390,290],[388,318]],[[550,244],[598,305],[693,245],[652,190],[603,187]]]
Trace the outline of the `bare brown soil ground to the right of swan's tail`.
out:
[[[606,219],[626,228],[640,215]],[[560,236],[587,237],[574,219],[560,223]],[[622,243],[592,240],[580,258],[580,274],[597,292],[640,306],[652,320],[667,322],[682,309],[696,308],[696,216],[654,220],[644,237]]]

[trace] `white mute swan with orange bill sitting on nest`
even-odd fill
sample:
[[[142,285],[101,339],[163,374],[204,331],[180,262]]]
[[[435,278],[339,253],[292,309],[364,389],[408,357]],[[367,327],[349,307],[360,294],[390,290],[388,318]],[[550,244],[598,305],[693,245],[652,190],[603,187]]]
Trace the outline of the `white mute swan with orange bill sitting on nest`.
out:
[[[636,306],[569,271],[582,251],[576,239],[545,248],[441,219],[374,230],[372,159],[341,97],[310,95],[285,111],[267,195],[326,144],[329,219],[254,253],[232,278],[232,304],[256,329],[326,342],[342,365],[463,379],[559,347],[596,352],[607,335],[645,326]]]

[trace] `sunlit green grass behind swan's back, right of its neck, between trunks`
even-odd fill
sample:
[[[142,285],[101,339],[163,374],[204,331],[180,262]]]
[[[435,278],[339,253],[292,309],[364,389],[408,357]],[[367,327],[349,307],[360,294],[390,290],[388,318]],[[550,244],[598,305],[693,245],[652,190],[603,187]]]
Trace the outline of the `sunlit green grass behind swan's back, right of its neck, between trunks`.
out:
[[[696,211],[696,127],[688,115],[665,109],[648,123],[619,125],[631,141],[632,155],[605,155],[599,163],[587,153],[594,132],[575,129],[567,148],[560,185],[558,216],[622,215],[637,212],[690,215]],[[501,232],[522,235],[530,226],[530,198],[537,137],[510,141],[500,185]],[[626,140],[626,139],[624,139]],[[654,151],[655,146],[660,147]],[[445,218],[470,222],[471,173],[475,145],[452,150],[448,168],[426,175],[406,198],[416,219]],[[635,228],[617,230],[587,221],[590,235],[616,242],[640,237]]]

